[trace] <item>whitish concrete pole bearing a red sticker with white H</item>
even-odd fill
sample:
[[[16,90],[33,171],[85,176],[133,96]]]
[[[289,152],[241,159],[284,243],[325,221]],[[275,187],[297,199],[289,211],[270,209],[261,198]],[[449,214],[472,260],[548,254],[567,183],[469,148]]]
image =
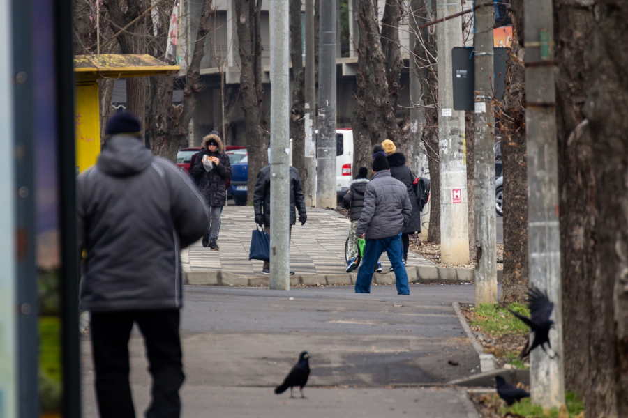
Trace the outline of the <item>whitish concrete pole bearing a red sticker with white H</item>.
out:
[[[436,17],[462,11],[459,1],[438,0]],[[462,46],[462,18],[436,25],[438,141],[440,146],[440,251],[443,263],[469,263],[465,112],[454,110],[451,48]]]

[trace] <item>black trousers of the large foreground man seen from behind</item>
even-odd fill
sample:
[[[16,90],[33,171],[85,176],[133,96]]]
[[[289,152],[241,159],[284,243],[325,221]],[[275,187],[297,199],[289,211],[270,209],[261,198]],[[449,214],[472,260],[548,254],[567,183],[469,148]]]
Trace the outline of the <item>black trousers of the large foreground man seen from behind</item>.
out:
[[[137,323],[144,336],[153,376],[152,402],[145,416],[178,418],[179,388],[185,378],[179,309],[91,313],[91,349],[100,418],[135,418],[128,381],[128,340],[133,323]]]

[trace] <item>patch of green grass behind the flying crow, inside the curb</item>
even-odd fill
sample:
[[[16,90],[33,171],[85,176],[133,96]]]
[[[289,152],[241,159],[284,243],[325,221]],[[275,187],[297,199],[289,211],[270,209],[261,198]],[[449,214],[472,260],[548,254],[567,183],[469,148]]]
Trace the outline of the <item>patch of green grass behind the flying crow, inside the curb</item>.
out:
[[[528,307],[517,302],[512,303],[509,307],[512,311],[525,316],[530,316]],[[528,334],[528,326],[521,320],[518,320],[506,308],[500,305],[483,303],[475,308],[477,319],[472,321],[473,325],[477,325],[481,330],[488,332],[493,336],[502,336],[507,334]]]

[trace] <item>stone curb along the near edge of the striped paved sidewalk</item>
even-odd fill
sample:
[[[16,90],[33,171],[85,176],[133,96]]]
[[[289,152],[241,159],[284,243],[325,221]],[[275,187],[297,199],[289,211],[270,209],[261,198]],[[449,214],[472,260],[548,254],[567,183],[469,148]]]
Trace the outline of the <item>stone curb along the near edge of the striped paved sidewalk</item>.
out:
[[[268,287],[269,276],[242,276],[222,270],[190,271],[183,264],[184,284],[195,286]],[[464,284],[473,281],[474,270],[412,266],[406,268],[410,284]],[[355,284],[357,274],[297,274],[290,277],[290,286],[329,286]],[[395,284],[392,272],[373,274],[373,284]]]

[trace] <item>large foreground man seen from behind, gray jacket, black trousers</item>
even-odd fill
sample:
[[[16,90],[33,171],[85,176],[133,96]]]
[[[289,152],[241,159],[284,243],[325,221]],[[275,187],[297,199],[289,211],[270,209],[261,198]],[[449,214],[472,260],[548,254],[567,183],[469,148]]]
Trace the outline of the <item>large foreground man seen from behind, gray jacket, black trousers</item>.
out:
[[[179,255],[209,224],[188,176],[151,155],[140,130],[132,114],[115,114],[98,162],[77,178],[78,250],[85,254],[80,307],[91,311],[101,418],[135,417],[128,382],[133,323],[144,336],[153,376],[146,417],[179,417]]]

